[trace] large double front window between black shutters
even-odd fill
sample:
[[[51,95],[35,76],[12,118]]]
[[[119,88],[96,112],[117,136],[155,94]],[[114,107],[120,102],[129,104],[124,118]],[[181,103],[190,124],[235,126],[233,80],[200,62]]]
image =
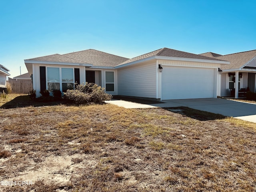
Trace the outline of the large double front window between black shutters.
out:
[[[47,68],[47,86],[49,92],[66,90],[73,88],[74,85],[74,69],[73,68]]]

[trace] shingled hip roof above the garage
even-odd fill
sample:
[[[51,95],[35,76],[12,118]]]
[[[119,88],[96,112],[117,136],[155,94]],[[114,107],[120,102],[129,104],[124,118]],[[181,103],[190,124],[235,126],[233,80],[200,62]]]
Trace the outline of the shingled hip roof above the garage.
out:
[[[140,55],[138,57],[134,57],[132,59],[126,60],[125,62],[121,63],[122,64],[126,64],[126,63],[130,63],[130,62],[134,62],[134,61],[138,61],[144,58],[148,58],[151,56],[166,56],[166,57],[180,57],[180,58],[191,58],[191,59],[203,59],[203,60],[217,60],[217,61],[221,61],[220,59],[216,59],[216,58],[209,58],[207,56],[202,56],[202,55],[197,55],[197,54],[193,54],[193,53],[188,53],[188,52],[183,52],[183,51],[178,51],[178,50],[174,50],[174,49],[169,49],[169,48],[162,48],[162,49],[158,49],[143,55]]]

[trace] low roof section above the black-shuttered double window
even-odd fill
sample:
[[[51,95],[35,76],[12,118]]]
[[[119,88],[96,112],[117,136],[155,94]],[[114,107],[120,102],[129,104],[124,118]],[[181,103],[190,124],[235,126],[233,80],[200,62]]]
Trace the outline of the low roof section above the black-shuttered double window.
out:
[[[27,60],[33,60],[33,61],[49,61],[49,62],[66,62],[66,63],[86,63],[84,61],[80,61],[74,58],[70,58],[67,56],[63,56],[60,54],[53,54],[53,55],[47,55]]]

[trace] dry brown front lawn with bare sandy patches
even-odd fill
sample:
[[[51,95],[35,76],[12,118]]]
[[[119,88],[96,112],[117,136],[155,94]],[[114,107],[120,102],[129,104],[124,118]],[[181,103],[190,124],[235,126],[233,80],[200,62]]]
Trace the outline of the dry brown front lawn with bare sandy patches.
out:
[[[256,190],[254,123],[189,108],[29,105],[0,109],[0,191]]]

